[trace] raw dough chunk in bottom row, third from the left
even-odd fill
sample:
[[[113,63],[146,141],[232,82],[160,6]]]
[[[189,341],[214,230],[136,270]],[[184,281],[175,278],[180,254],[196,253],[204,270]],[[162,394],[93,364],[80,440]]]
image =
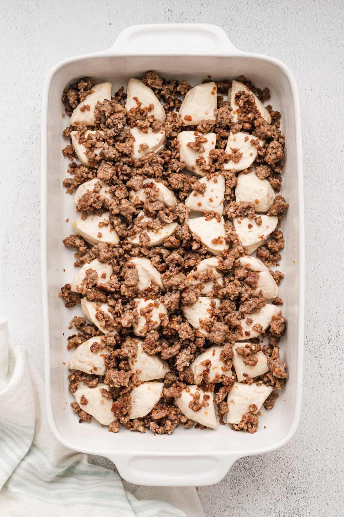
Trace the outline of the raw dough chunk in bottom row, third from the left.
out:
[[[200,403],[203,401],[204,395],[209,397],[207,400],[208,406],[202,407],[199,411],[193,411],[189,408],[189,403],[192,402],[192,396],[198,391],[200,393]],[[217,426],[215,407],[214,407],[214,393],[211,391],[202,391],[197,385],[190,385],[182,391],[182,396],[175,398],[174,403],[180,408],[183,415],[190,420],[205,425],[211,429]]]

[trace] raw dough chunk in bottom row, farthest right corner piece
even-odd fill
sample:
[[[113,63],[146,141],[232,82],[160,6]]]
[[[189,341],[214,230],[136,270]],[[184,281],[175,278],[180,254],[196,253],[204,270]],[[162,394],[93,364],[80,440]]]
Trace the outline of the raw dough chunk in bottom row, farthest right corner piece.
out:
[[[227,422],[239,423],[242,415],[248,412],[248,407],[251,404],[256,404],[258,408],[255,411],[256,414],[273,389],[272,386],[265,386],[265,384],[257,386],[257,384],[234,383],[227,397],[229,408]]]

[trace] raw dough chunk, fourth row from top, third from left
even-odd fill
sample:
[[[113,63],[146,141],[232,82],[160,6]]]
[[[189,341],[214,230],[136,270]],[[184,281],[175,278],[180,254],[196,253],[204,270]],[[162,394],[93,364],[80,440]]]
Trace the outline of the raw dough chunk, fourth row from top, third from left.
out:
[[[225,220],[223,217],[221,217],[220,222],[217,222],[215,217],[210,220],[206,220],[205,217],[195,217],[195,219],[189,219],[187,224],[189,230],[198,235],[202,244],[213,255],[220,255],[223,251],[228,250],[229,244],[225,240]]]

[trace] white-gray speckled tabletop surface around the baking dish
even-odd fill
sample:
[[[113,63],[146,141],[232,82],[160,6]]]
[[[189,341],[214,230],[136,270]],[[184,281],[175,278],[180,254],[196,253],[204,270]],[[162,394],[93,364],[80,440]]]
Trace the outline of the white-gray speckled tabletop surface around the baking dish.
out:
[[[25,343],[41,368],[40,103],[50,67],[110,47],[134,23],[205,22],[222,26],[237,48],[277,57],[295,74],[307,256],[302,419],[287,446],[238,460],[222,482],[199,489],[208,517],[343,514],[343,19],[340,0],[0,4],[0,315],[10,316],[12,341]]]

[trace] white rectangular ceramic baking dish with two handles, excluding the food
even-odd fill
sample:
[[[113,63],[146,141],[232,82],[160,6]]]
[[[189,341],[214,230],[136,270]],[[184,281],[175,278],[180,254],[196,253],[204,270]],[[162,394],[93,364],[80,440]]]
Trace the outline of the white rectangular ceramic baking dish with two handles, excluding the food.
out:
[[[287,135],[283,190],[289,202],[282,230],[286,236],[281,270],[285,273],[280,295],[288,327],[281,342],[290,378],[275,408],[263,411],[256,434],[236,433],[229,425],[213,430],[178,428],[171,436],[109,433],[97,422],[80,425],[69,402],[66,349],[68,321],[75,308],[66,310],[57,293],[75,274],[73,255],[62,239],[72,233],[74,206],[62,186],[67,159],[61,132],[61,94],[74,79],[91,75],[96,82],[111,81],[114,88],[132,76],[156,70],[165,78],[186,79],[192,85],[207,75],[213,79],[244,74],[261,87],[268,86],[274,109],[282,112]],[[304,328],[304,223],[300,108],[295,80],[288,68],[271,57],[235,49],[214,25],[139,25],[125,29],[113,47],[97,54],[66,59],[48,74],[42,107],[41,171],[42,297],[46,352],[46,400],[50,428],[70,449],[111,459],[128,481],[145,485],[204,485],[220,481],[238,458],[261,454],[286,444],[297,429],[302,399]],[[63,270],[66,269],[66,272]],[[63,332],[66,333],[63,336]],[[68,402],[68,404],[67,404]],[[264,428],[265,427],[265,428]]]

